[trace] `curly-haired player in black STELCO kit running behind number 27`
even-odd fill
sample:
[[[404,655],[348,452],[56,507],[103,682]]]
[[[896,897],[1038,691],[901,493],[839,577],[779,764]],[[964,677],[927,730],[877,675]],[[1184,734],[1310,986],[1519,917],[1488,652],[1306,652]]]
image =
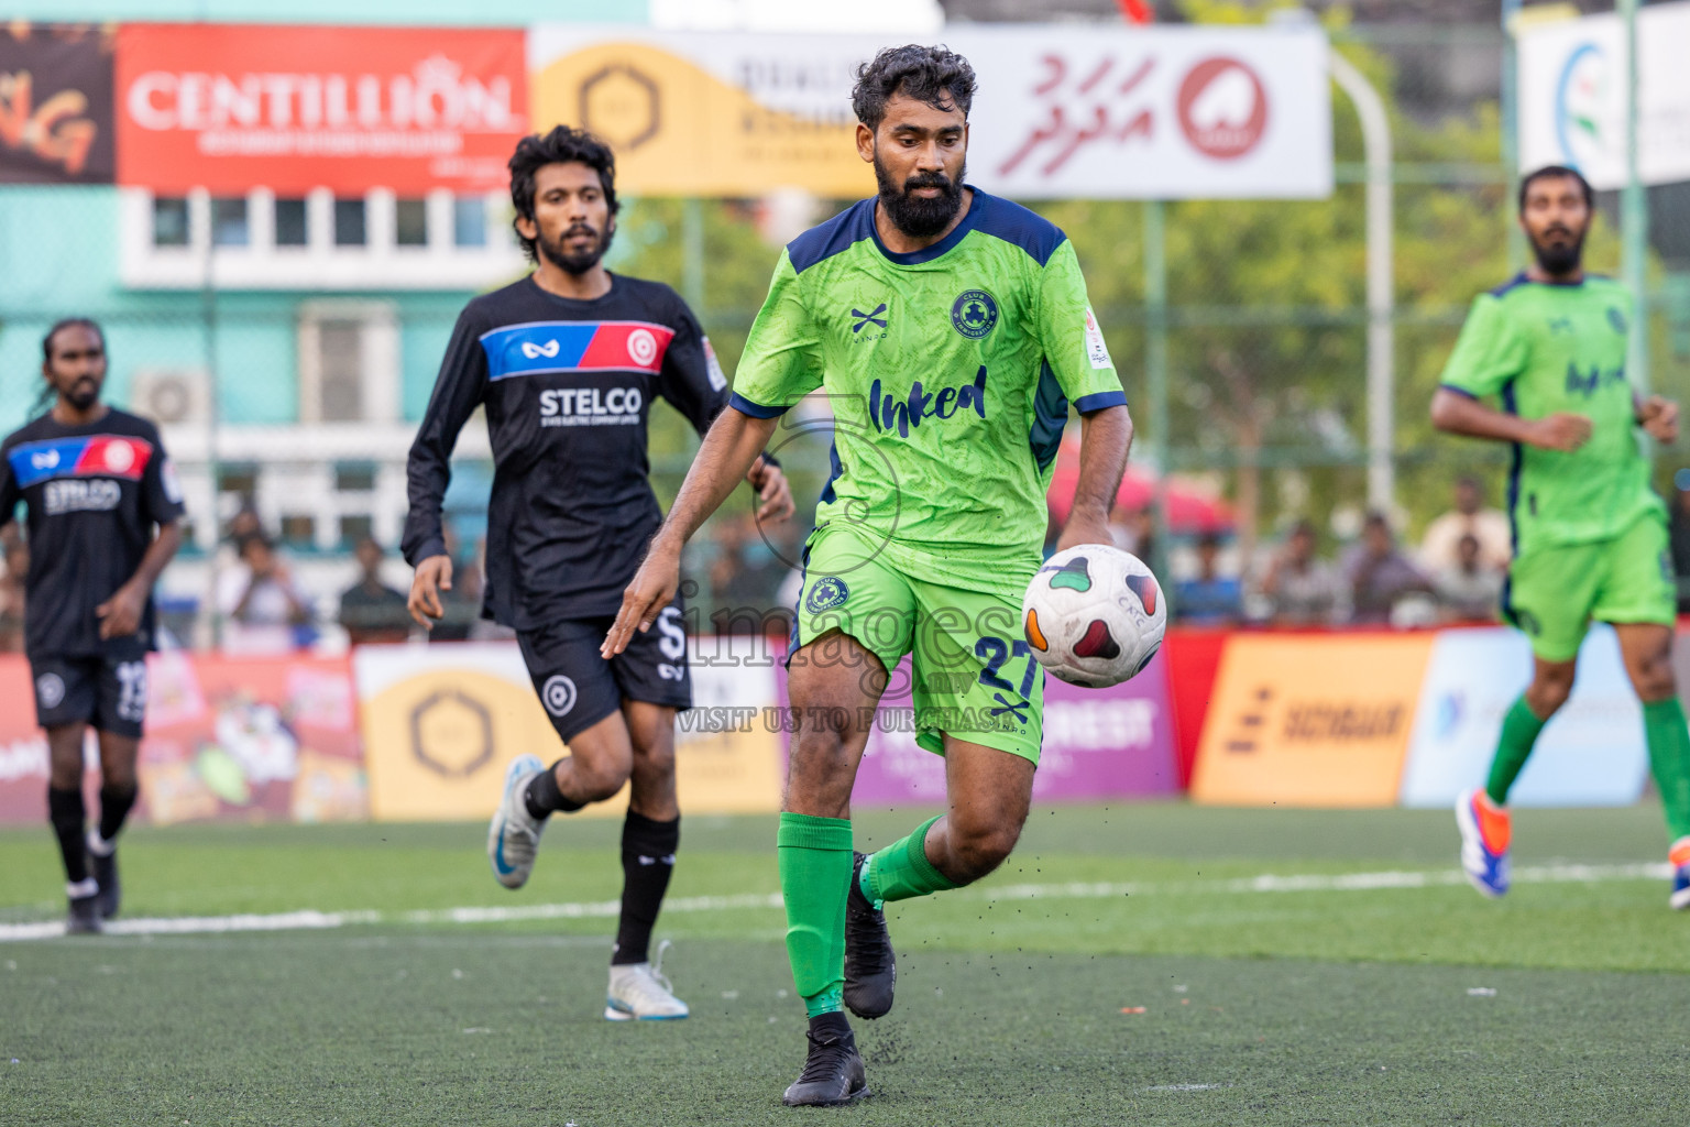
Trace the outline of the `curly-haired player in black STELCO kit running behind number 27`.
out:
[[[482,613],[517,632],[534,691],[570,747],[549,769],[534,755],[507,769],[487,836],[493,877],[522,887],[549,814],[632,781],[605,1017],[686,1017],[647,950],[681,835],[674,713],[693,703],[681,600],[624,654],[605,661],[598,645],[662,519],[647,480],[651,404],[666,399],[703,434],[727,407],[727,377],[673,289],[603,267],[617,215],[608,147],[568,127],[522,139],[510,199],[534,272],[465,306],[446,346],[411,446],[411,613],[424,627],[443,615],[451,559],[441,498],[458,431],[485,406],[495,468]],[[772,458],[747,480],[760,519],[791,515]]]

